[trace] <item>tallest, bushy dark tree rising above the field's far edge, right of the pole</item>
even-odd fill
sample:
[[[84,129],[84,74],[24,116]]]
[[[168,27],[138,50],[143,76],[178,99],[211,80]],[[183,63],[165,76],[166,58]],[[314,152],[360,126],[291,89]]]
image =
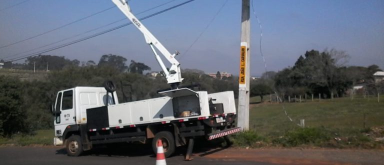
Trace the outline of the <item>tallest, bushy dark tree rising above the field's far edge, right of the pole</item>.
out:
[[[349,55],[345,51],[335,49],[306,51],[300,55],[292,68],[286,68],[276,74],[276,87],[290,88],[294,93],[309,90],[312,93],[343,93],[350,80],[340,69]],[[302,88],[305,87],[305,88]],[[285,91],[289,91],[285,90]]]

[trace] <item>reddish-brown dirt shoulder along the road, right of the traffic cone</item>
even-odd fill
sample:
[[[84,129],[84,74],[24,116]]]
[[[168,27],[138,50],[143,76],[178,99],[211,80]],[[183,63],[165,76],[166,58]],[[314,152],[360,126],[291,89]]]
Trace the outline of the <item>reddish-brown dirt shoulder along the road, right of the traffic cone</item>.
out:
[[[360,149],[242,149],[227,148],[200,153],[227,161],[246,160],[276,164],[383,164],[383,150]]]

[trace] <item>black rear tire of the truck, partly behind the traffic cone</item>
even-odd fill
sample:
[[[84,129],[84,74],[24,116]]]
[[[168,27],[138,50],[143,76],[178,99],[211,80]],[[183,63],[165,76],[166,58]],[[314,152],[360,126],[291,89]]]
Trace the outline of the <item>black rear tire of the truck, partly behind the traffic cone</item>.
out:
[[[152,149],[154,154],[157,153],[157,140],[161,139],[164,148],[165,157],[169,157],[174,153],[175,144],[173,134],[169,131],[160,131],[152,139]]]

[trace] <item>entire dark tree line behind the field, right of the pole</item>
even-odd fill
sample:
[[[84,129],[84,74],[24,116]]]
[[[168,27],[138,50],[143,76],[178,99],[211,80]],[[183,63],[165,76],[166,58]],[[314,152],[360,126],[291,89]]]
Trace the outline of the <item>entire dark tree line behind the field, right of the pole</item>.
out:
[[[373,73],[382,71],[377,65],[345,66],[348,58],[345,51],[335,49],[306,51],[293,66],[265,72],[260,79],[253,80],[251,95],[262,99],[262,95],[274,92],[286,97],[320,93],[321,97],[330,98],[347,94],[357,83],[365,84],[365,92],[384,92],[384,81],[375,83],[373,77]]]

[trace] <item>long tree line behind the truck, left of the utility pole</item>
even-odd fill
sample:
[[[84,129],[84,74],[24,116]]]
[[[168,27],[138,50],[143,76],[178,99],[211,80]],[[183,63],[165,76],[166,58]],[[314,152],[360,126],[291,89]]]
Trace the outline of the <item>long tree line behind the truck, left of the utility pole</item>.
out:
[[[53,127],[50,106],[57,91],[75,86],[102,86],[105,80],[116,84],[119,102],[159,97],[158,89],[169,88],[165,78],[144,75],[150,67],[144,63],[114,54],[102,55],[99,61],[80,62],[63,56],[38,55],[28,57],[24,63],[13,63],[5,68],[46,70],[41,79],[20,80],[10,75],[0,75],[0,135],[33,133],[37,129]],[[13,71],[15,71],[13,70]],[[28,72],[32,74],[33,72]],[[200,84],[201,90],[218,92],[236,90],[237,80],[215,79],[197,69],[182,70],[183,84]]]

